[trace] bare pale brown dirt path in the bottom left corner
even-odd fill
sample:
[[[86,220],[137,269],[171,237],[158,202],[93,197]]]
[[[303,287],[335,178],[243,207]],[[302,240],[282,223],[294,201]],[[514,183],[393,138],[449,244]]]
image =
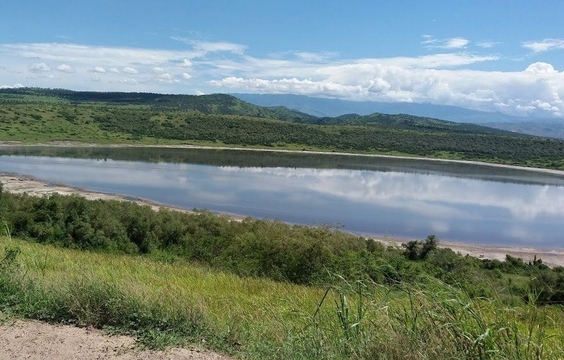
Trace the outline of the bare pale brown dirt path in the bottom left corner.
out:
[[[51,325],[38,321],[0,324],[0,359],[10,360],[229,360],[196,348],[139,350],[135,339],[108,336],[96,329]]]

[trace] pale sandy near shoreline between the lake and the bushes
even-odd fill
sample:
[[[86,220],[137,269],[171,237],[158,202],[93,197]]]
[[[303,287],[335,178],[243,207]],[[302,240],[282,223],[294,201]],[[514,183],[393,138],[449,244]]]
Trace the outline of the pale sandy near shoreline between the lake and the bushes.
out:
[[[91,191],[88,189],[72,187],[60,183],[51,183],[42,181],[28,175],[20,175],[13,173],[0,173],[0,182],[3,184],[4,191],[16,194],[27,193],[32,196],[44,196],[57,193],[60,195],[80,195],[89,200],[119,200],[133,201],[139,205],[146,205],[157,211],[161,207],[190,213],[190,210],[168,206],[155,201],[141,198],[131,198],[120,194],[108,194],[102,192]],[[234,214],[222,214],[229,216],[235,220],[243,217]],[[380,242],[400,246],[406,239],[394,239],[382,236],[370,236]],[[543,263],[549,266],[564,266],[564,248],[537,248],[537,247],[517,247],[517,246],[490,246],[471,243],[457,243],[440,241],[439,246],[451,248],[455,252],[468,254],[477,258],[498,259],[503,260],[507,254],[523,259],[524,261],[532,260],[535,256],[541,258]]]

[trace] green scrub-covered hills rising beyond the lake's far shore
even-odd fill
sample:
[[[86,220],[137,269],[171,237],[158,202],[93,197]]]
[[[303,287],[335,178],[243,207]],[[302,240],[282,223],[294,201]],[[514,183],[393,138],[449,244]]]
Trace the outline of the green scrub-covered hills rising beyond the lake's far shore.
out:
[[[564,169],[564,141],[409,115],[316,118],[228,95],[0,90],[0,140],[323,150]]]

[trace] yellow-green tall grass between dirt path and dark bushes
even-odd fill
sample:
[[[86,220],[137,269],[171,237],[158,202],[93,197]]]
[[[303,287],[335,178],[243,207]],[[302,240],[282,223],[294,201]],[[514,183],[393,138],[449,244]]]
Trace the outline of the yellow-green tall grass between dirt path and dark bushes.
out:
[[[314,288],[0,239],[0,311],[248,359],[561,359],[564,311],[435,279]],[[530,297],[534,299],[533,296]]]

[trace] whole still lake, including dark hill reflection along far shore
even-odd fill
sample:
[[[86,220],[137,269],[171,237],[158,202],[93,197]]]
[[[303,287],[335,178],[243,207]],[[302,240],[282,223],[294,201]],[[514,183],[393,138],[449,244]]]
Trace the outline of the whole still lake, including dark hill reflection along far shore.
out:
[[[362,156],[4,148],[0,171],[183,208],[359,234],[564,247],[564,176]]]

